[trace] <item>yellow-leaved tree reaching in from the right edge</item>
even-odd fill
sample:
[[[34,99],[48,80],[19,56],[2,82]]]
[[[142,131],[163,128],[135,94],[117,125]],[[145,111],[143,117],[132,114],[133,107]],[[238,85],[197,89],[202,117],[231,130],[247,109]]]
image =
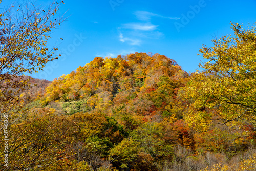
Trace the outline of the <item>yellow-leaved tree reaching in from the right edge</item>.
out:
[[[195,109],[186,116],[190,122],[245,124],[256,119],[256,27],[244,30],[242,25],[231,25],[233,36],[223,36],[213,40],[211,48],[200,49],[208,61],[201,63],[203,71],[194,73],[180,91],[194,100]]]

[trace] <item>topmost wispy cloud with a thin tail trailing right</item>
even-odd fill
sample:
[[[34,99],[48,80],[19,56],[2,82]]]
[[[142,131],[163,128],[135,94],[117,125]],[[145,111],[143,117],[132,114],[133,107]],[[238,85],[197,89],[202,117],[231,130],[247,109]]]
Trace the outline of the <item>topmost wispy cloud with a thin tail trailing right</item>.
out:
[[[136,18],[138,20],[146,21],[146,22],[150,21],[153,16],[164,18],[164,19],[174,19],[174,20],[180,19],[178,17],[165,17],[159,14],[148,12],[148,11],[135,11],[134,15],[136,15]]]

